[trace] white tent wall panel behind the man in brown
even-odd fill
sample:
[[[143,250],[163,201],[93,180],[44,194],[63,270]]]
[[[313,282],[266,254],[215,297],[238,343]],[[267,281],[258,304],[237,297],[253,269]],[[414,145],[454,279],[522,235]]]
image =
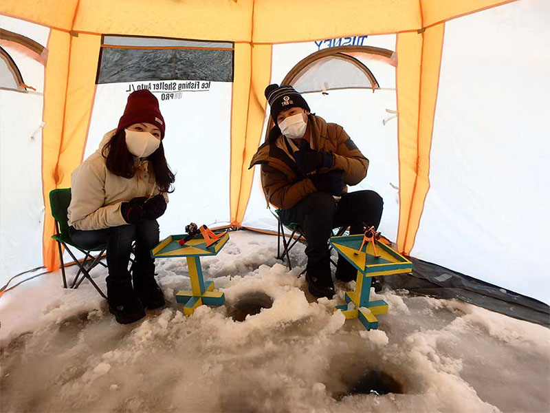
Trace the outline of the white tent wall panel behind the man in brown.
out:
[[[395,49],[395,36],[369,36],[364,45]],[[276,45],[273,48],[272,83],[280,83],[298,61],[316,51],[316,43],[293,43]],[[289,59],[292,56],[292,59]],[[286,64],[285,64],[286,63]],[[371,89],[331,90],[327,95],[309,93],[304,97],[311,111],[325,118],[327,122],[342,125],[355,145],[369,158],[367,178],[350,191],[372,189],[384,198],[384,215],[380,230],[391,240],[397,236],[399,219],[399,164],[397,161],[397,122],[388,118],[386,109],[397,109],[395,101],[395,67],[378,63],[377,69],[382,76],[377,77],[378,70],[369,69],[377,77],[381,90],[374,93]],[[388,76],[393,72],[393,76]],[[364,76],[364,75],[363,75]],[[302,77],[305,79],[305,76]],[[267,117],[266,117],[267,124]],[[265,126],[264,126],[265,136]],[[259,169],[259,168],[256,168]],[[267,204],[261,187],[259,170],[254,173],[254,184],[250,201],[243,220],[243,226],[267,231],[276,231],[276,220],[267,210]]]

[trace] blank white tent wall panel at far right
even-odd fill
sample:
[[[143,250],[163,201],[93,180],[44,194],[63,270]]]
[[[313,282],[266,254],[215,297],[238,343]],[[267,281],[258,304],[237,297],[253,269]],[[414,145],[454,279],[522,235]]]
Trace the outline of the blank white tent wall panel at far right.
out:
[[[550,3],[533,0],[446,24],[431,186],[411,251],[545,302],[549,18]]]

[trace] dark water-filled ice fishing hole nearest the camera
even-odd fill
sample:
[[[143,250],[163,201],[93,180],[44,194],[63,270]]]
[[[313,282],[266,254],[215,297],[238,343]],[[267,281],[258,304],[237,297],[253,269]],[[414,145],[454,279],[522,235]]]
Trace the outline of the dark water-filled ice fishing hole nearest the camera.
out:
[[[347,383],[347,390],[336,394],[334,398],[341,400],[345,396],[353,394],[375,394],[381,396],[388,393],[403,394],[403,385],[388,373],[380,369],[374,369],[361,374],[358,379],[350,380]]]

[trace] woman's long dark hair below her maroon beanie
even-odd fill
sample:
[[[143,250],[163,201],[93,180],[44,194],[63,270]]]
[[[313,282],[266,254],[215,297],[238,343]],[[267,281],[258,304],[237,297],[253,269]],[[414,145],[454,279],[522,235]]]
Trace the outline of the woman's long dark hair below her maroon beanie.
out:
[[[116,176],[122,176],[122,178],[133,178],[137,171],[137,165],[133,160],[132,154],[126,147],[126,134],[124,129],[118,131],[109,142],[107,142],[101,153],[106,158],[107,169]],[[107,153],[107,154],[106,154]],[[162,140],[156,151],[151,153],[147,158],[153,167],[153,173],[155,173],[155,182],[161,192],[173,192],[172,184],[175,181],[175,176],[164,156],[164,146]]]

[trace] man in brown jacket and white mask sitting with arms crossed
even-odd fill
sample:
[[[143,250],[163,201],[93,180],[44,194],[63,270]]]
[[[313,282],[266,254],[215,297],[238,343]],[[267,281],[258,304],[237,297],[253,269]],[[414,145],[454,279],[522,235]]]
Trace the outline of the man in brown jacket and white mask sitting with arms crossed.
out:
[[[332,298],[331,230],[350,225],[351,234],[360,234],[364,225],[377,228],[382,198],[374,191],[347,193],[347,185],[366,176],[369,160],[340,125],[311,114],[292,86],[269,85],[265,98],[275,125],[250,167],[261,165],[267,201],[281,209],[281,221],[296,222],[305,235],[309,292]],[[355,268],[338,257],[336,278],[349,282],[356,275]]]

